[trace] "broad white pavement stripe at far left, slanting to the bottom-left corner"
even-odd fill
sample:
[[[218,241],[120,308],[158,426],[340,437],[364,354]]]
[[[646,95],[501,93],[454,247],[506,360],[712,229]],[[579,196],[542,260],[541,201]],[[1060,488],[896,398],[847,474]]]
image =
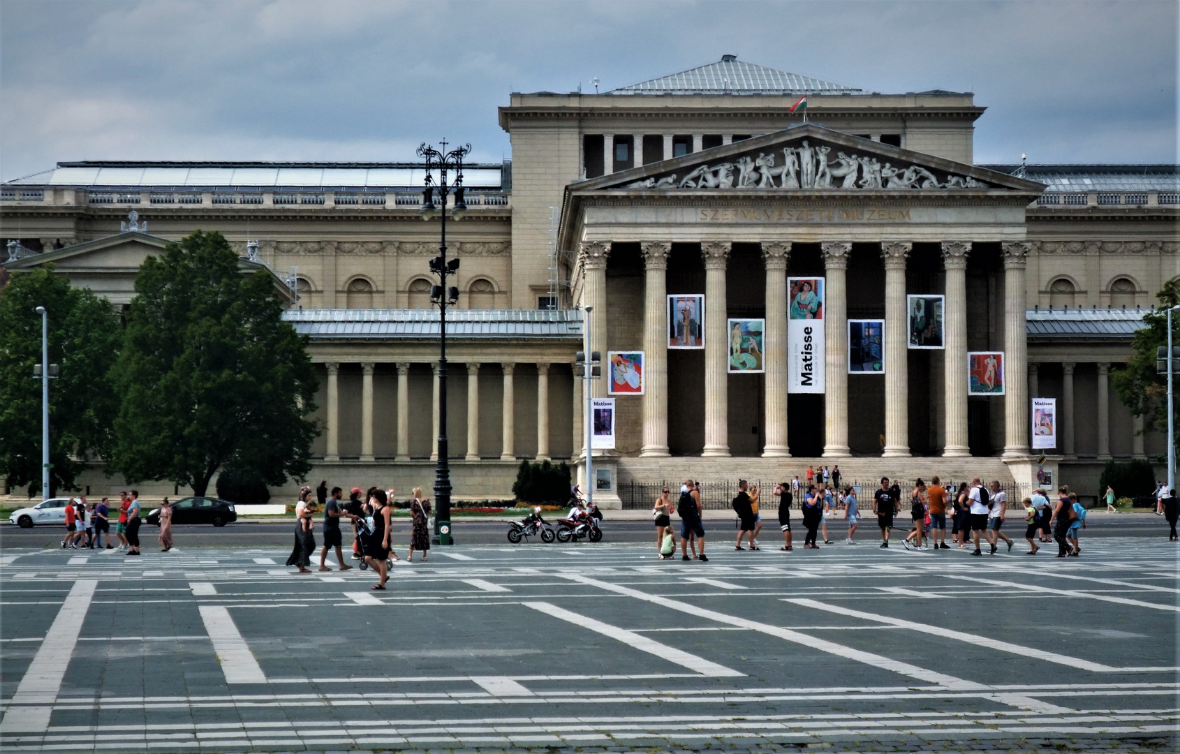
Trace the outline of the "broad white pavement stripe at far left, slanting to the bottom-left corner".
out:
[[[78,644],[78,635],[81,632],[83,621],[90,610],[91,599],[94,598],[94,590],[98,589],[98,581],[80,579],[74,582],[70,595],[66,597],[58,617],[53,619],[46,636],[52,636],[53,641],[41,642],[33,662],[28,664],[25,675],[20,678],[17,693],[13,694],[5,713],[4,721],[0,722],[0,733],[42,733],[50,728],[50,713],[52,704],[58,699],[61,690],[61,681],[66,675],[66,667]],[[25,707],[24,704],[40,704],[38,707]]]

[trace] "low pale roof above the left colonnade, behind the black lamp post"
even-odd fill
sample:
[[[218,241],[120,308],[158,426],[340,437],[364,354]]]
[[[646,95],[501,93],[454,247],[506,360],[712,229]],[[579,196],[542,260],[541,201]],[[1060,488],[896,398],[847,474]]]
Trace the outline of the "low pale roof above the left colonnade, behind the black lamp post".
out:
[[[283,320],[314,339],[439,336],[434,309],[288,309]],[[582,337],[578,309],[448,309],[447,337]]]

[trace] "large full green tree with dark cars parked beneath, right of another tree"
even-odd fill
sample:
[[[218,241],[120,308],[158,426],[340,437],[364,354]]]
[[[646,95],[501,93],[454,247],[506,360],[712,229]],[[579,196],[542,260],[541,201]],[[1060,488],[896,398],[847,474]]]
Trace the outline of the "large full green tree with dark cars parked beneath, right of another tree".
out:
[[[114,381],[114,467],[205,494],[218,468],[267,484],[310,471],[316,379],[266,273],[245,275],[219,232],[149,256]]]

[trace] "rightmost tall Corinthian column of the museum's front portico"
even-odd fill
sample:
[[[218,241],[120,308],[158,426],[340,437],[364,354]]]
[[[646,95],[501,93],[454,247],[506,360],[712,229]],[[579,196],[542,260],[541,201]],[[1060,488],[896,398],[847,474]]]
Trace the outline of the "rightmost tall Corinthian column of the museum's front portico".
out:
[[[1028,333],[1024,322],[1027,241],[1005,242],[1004,249],[1004,457],[1029,454]]]

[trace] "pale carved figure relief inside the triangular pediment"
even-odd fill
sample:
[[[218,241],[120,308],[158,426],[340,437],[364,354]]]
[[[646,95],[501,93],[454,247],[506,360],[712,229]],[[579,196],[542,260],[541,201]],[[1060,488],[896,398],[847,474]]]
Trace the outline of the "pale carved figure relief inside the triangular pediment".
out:
[[[834,151],[834,153],[833,153]],[[702,164],[683,177],[676,173],[625,184],[627,189],[989,189],[971,176],[940,176],[913,163],[893,164],[877,155],[802,139],[742,155],[736,159]]]

